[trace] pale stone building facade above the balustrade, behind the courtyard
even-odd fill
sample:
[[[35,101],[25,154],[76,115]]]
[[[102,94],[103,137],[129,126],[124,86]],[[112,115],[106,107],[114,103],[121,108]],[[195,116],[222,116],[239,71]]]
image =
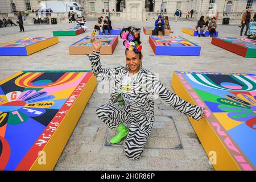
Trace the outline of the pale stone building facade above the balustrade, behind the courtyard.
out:
[[[41,0],[1,0],[0,13],[10,13],[14,10],[38,9]],[[47,0],[44,0],[47,1]],[[63,1],[63,0],[48,0]],[[69,1],[69,0],[64,0]],[[70,0],[72,1],[72,0]],[[185,13],[187,9],[197,12],[206,12],[216,9],[219,12],[241,12],[251,7],[256,9],[256,0],[73,0],[80,3],[86,13],[122,12],[124,9],[130,13],[160,12],[163,3],[163,11],[174,13],[179,9]],[[137,10],[135,9],[137,7]],[[129,9],[130,8],[130,9]],[[135,11],[136,10],[136,11]],[[137,14],[136,14],[137,13]]]

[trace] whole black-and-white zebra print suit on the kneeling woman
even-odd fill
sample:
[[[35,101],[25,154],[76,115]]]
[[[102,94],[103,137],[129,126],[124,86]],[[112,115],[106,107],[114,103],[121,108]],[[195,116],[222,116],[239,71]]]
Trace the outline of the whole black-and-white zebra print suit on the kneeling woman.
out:
[[[110,81],[110,100],[108,104],[98,107],[96,114],[110,128],[114,129],[121,122],[129,123],[129,134],[126,137],[124,151],[131,159],[141,158],[143,147],[151,133],[154,122],[154,95],[158,94],[170,106],[181,113],[199,120],[203,107],[192,105],[181,100],[175,93],[164,88],[154,73],[142,68],[131,84],[131,105],[121,106],[118,102],[121,93],[122,79],[128,72],[125,67],[102,68],[100,52],[89,56],[92,71],[98,80]]]

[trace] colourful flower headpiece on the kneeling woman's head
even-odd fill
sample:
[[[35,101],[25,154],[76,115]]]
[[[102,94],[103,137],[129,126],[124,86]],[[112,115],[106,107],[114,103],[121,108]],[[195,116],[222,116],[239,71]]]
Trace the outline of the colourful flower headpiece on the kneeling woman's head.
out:
[[[128,27],[123,28],[120,36],[124,40],[123,46],[130,51],[134,51],[135,53],[141,52],[142,46],[140,38],[141,28]]]

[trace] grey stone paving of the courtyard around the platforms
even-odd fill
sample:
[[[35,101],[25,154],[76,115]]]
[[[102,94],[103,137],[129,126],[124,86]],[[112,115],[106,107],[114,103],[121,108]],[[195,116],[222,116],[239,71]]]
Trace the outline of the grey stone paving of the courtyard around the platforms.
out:
[[[78,36],[59,37],[59,43],[30,56],[1,56],[0,80],[21,70],[81,70],[91,69],[87,56],[71,56],[68,46],[90,35],[95,21],[88,21],[89,31]],[[113,22],[113,26],[152,26],[154,22]],[[172,72],[231,72],[256,73],[256,59],[245,58],[210,43],[210,38],[197,38],[181,32],[182,27],[195,27],[196,22],[180,19],[170,21],[174,36],[183,36],[201,46],[198,56],[155,56],[148,36],[141,32],[143,67],[159,74],[163,84],[171,89]],[[56,25],[0,28],[0,42],[25,38],[27,36],[52,36],[53,30],[74,27],[75,23]],[[218,26],[219,36],[240,37],[238,26]],[[102,55],[104,67],[125,65],[125,49],[119,43],[113,55]],[[207,154],[197,139],[187,117],[170,108],[162,100],[155,102],[154,129],[140,160],[130,160],[121,144],[109,146],[108,138],[114,135],[96,115],[97,106],[108,102],[109,94],[96,90],[90,98],[84,113],[67,146],[56,164],[55,170],[213,170]]]

